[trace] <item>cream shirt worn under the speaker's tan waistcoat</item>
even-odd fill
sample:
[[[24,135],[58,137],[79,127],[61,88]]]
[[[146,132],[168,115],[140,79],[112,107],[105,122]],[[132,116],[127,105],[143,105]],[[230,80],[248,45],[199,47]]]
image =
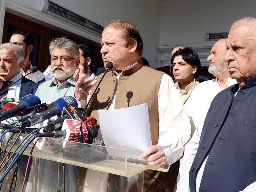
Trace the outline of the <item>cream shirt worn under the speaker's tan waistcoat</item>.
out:
[[[123,69],[134,67],[137,62]],[[114,70],[113,70],[114,71]],[[119,75],[116,71],[116,87],[108,110],[115,108]],[[87,100],[88,101],[88,100]],[[158,145],[164,151],[166,162],[174,163],[183,155],[183,145],[188,141],[191,128],[186,110],[180,100],[173,80],[163,74],[158,91],[159,139]]]

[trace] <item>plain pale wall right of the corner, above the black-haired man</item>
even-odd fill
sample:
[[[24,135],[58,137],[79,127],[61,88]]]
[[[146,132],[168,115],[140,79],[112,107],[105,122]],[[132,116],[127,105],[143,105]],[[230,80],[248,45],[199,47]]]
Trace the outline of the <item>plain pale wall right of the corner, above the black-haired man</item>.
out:
[[[206,33],[228,32],[234,21],[255,17],[255,7],[256,1],[241,0],[162,1],[159,45],[212,45]]]

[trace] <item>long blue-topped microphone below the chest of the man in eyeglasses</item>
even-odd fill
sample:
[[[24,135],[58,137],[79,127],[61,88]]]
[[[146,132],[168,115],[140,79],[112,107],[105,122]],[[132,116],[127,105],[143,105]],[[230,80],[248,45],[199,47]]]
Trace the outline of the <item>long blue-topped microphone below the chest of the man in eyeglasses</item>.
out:
[[[60,99],[55,101],[53,108],[50,108],[50,109],[40,112],[40,113],[36,113],[32,117],[27,118],[25,121],[23,121],[19,125],[19,128],[22,129],[24,127],[30,127],[30,126],[38,124],[46,119],[49,119],[52,116],[60,115],[63,110],[63,107],[65,107],[71,103],[76,103],[76,105],[77,105],[77,101],[74,97],[71,97],[71,96],[61,97]]]

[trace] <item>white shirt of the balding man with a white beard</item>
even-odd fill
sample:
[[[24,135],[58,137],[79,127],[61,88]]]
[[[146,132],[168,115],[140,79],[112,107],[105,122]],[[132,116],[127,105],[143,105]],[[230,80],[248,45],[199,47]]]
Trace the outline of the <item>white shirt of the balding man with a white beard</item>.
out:
[[[177,192],[189,192],[189,170],[196,156],[196,151],[204,125],[204,119],[213,98],[222,90],[236,83],[236,80],[231,79],[230,77],[227,79],[226,84],[222,86],[219,85],[217,79],[204,81],[196,86],[188,101],[185,103],[184,106],[188,112],[188,116],[193,120],[192,124],[194,124],[194,127],[192,127],[193,136],[186,144],[184,156],[180,159],[180,170],[177,178]],[[203,174],[202,171],[203,169],[198,172],[197,176]],[[197,182],[200,183],[201,179],[198,178]]]

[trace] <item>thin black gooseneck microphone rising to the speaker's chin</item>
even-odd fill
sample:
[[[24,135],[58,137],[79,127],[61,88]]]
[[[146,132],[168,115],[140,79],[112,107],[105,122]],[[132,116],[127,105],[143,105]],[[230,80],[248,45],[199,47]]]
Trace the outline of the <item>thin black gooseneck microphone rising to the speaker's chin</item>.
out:
[[[78,135],[78,142],[80,143],[83,143],[84,142],[84,134],[83,134],[83,120],[84,120],[84,114],[86,113],[86,117],[87,117],[87,108],[95,94],[95,92],[97,91],[98,87],[100,86],[100,83],[102,81],[102,79],[104,78],[104,76],[106,75],[106,73],[111,70],[113,68],[113,63],[111,61],[107,62],[106,64],[106,69],[104,71],[104,74],[103,76],[101,77],[100,79],[100,82],[99,84],[97,85],[96,89],[94,90],[94,92],[92,93],[92,96],[90,98],[90,100],[88,101],[88,103],[86,104],[85,108],[84,108],[84,111],[83,111],[83,115],[82,115],[82,119],[81,119],[81,125],[80,125],[80,132],[79,132],[79,135]],[[98,133],[97,133],[98,134]]]

